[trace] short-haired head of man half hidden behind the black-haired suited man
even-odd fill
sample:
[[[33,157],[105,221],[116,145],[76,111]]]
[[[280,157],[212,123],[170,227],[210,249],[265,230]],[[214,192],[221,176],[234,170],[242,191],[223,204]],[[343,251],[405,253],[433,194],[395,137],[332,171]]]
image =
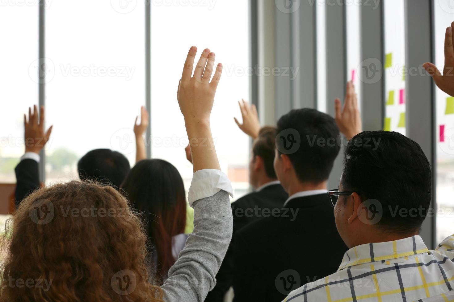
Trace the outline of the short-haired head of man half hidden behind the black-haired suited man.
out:
[[[276,134],[276,127],[262,127],[258,133],[257,139],[252,145],[253,157],[256,158],[256,156],[260,156],[262,158],[266,176],[272,179],[277,178],[273,166],[274,150],[276,149]]]

